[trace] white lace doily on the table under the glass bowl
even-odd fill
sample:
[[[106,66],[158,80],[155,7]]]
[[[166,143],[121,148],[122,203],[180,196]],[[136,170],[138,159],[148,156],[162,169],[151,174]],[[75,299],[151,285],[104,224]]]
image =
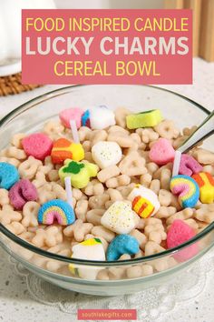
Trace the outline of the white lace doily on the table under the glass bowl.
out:
[[[207,274],[214,268],[214,251],[209,251],[180,278],[175,278],[169,284],[122,297],[96,297],[67,291],[36,277],[15,259],[10,258],[10,261],[15,274],[24,278],[30,296],[40,303],[58,307],[75,317],[78,308],[136,308],[138,319],[149,322],[159,321],[164,313],[180,302],[197,297],[202,292]]]

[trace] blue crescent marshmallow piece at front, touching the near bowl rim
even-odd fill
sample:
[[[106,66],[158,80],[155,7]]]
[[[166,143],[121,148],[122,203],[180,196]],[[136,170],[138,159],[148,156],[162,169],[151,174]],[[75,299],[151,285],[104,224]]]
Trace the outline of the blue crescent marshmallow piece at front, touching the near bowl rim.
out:
[[[140,251],[138,240],[130,235],[122,234],[113,238],[107,249],[107,260],[117,260],[123,254],[135,255]]]

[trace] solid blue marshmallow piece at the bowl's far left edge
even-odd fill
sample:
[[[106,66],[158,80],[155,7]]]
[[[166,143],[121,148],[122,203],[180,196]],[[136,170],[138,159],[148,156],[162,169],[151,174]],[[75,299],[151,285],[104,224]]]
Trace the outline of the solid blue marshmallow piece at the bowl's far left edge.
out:
[[[0,162],[0,188],[9,190],[19,180],[19,173],[15,166]]]

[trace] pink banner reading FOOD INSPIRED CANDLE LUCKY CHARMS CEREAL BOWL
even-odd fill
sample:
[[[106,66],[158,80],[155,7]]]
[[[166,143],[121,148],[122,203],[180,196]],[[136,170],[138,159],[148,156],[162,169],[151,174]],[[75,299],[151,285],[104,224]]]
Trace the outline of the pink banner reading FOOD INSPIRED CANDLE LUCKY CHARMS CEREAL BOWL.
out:
[[[24,84],[191,84],[191,10],[23,10]]]

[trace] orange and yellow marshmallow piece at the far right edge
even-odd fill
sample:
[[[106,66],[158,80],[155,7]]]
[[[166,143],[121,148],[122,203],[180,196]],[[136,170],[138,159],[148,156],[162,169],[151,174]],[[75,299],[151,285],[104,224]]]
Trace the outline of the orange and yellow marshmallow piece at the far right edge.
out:
[[[199,199],[203,204],[211,204],[214,202],[214,177],[208,172],[199,172],[192,178],[199,185]]]

